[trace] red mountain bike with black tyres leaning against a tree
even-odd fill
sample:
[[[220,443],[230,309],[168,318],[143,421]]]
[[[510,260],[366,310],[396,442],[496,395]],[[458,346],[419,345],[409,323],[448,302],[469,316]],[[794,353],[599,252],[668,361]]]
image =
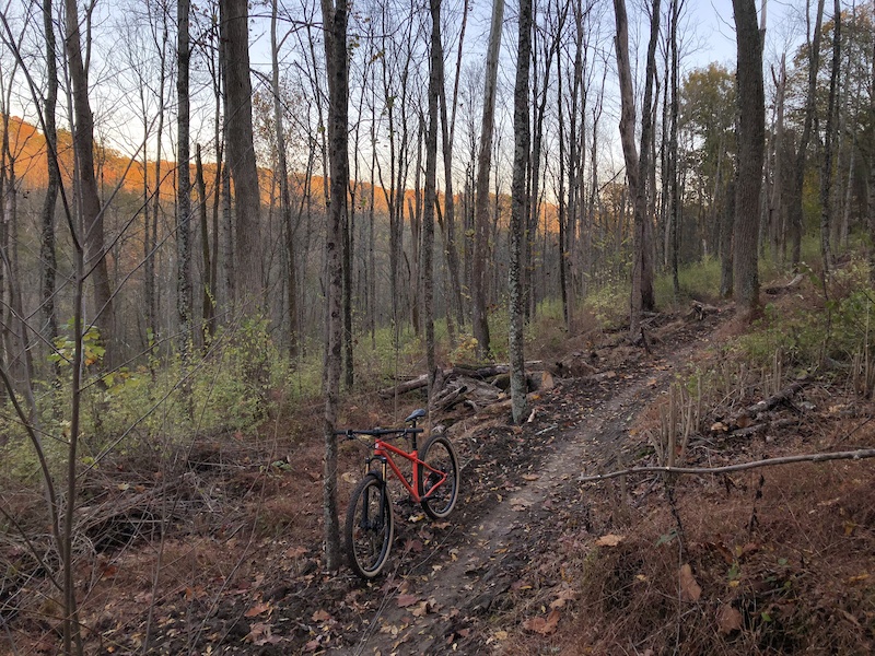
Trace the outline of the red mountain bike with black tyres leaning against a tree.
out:
[[[446,517],[456,505],[459,485],[456,450],[444,435],[432,435],[417,449],[417,435],[422,433],[417,421],[423,417],[425,411],[420,408],[405,420],[409,425],[402,429],[336,431],[348,440],[373,438],[368,441],[373,454],[365,458],[364,478],[350,496],[345,527],[349,564],[362,578],[377,576],[392,551],[395,520],[387,484],[389,471],[432,519]],[[410,450],[387,442],[395,437],[409,440]],[[401,472],[393,456],[410,462],[409,476]]]

